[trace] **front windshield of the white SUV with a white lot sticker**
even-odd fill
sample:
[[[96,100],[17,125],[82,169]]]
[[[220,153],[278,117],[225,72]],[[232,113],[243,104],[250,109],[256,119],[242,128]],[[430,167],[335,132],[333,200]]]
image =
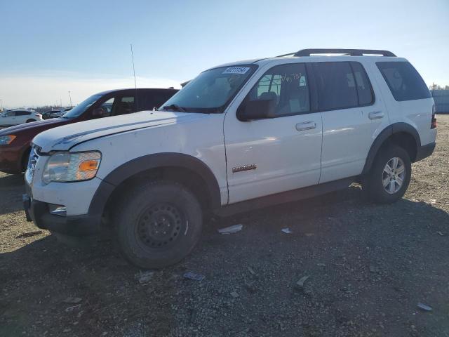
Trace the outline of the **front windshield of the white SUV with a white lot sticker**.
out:
[[[254,72],[255,67],[255,65],[220,67],[201,72],[159,110],[223,112],[227,103]]]

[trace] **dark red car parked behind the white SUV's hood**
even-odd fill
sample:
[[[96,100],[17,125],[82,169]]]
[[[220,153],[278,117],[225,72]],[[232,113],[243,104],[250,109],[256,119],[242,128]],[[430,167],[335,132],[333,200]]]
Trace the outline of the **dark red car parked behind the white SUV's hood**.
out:
[[[121,89],[103,91],[76,105],[60,118],[20,124],[0,130],[0,171],[22,173],[27,168],[30,143],[34,136],[49,128],[88,119],[130,114],[160,107],[176,89]]]

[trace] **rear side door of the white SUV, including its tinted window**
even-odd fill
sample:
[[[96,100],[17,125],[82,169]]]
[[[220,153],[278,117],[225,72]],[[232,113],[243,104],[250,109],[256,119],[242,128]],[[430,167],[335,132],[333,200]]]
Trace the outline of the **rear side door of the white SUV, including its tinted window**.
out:
[[[361,62],[314,62],[312,68],[323,117],[320,183],[357,176],[389,125],[378,88]]]

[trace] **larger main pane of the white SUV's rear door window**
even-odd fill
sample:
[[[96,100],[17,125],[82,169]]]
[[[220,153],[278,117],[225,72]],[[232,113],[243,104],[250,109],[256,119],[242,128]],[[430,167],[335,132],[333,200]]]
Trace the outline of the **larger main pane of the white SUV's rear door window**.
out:
[[[319,110],[338,110],[358,106],[356,79],[349,62],[316,62],[312,64]]]

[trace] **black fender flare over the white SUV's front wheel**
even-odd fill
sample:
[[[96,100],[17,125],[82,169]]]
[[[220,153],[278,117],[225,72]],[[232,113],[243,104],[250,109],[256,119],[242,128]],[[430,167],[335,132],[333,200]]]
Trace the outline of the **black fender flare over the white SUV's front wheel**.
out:
[[[149,169],[163,167],[189,169],[190,171],[198,173],[206,182],[206,189],[209,193],[208,197],[210,198],[211,208],[220,208],[220,187],[215,175],[203,161],[189,154],[162,152],[135,158],[121,164],[121,166],[111,171],[104,179],[102,179],[100,186],[93,195],[88,214],[101,215],[112,192],[114,192],[115,188],[126,179]]]

